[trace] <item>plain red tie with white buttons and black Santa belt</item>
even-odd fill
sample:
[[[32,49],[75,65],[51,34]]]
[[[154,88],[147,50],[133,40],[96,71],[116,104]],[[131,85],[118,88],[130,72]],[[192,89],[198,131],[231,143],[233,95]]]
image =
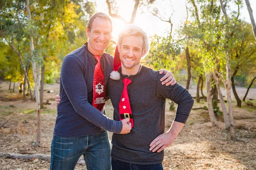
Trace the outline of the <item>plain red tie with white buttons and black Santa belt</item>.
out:
[[[122,91],[121,100],[119,102],[119,118],[120,120],[125,118],[130,118],[129,122],[131,122],[131,127],[133,127],[134,126],[133,116],[131,113],[131,105],[130,105],[128,91],[127,91],[127,86],[131,83],[131,80],[125,78],[123,79],[123,83],[124,83],[124,89]]]

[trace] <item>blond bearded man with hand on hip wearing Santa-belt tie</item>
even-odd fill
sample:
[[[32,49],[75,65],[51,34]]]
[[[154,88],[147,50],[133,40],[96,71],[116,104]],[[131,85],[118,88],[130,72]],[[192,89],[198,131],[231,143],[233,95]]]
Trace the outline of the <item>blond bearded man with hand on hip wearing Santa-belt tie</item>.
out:
[[[112,170],[162,170],[163,149],[176,139],[194,99],[178,84],[161,85],[163,76],[140,64],[149,51],[148,37],[141,28],[126,26],[117,43],[119,62],[113,67],[121,64],[120,79],[111,75],[108,81],[113,119],[129,117],[132,129],[125,135],[113,134]],[[172,126],[165,133],[166,99],[178,106]]]

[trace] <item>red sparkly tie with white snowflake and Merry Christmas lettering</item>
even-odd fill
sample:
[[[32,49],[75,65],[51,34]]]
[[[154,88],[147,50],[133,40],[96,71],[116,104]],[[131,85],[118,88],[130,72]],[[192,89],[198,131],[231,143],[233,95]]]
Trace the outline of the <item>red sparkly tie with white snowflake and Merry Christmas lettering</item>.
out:
[[[102,111],[106,98],[105,98],[105,79],[104,71],[100,63],[102,56],[94,56],[97,59],[97,64],[95,65],[94,77],[93,77],[93,107]]]

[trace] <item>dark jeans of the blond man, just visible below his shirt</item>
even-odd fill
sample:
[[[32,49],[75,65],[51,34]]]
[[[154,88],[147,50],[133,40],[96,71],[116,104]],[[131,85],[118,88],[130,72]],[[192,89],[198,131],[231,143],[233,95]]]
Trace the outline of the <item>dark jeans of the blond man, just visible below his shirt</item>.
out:
[[[162,164],[129,164],[112,159],[112,170],[163,170]]]

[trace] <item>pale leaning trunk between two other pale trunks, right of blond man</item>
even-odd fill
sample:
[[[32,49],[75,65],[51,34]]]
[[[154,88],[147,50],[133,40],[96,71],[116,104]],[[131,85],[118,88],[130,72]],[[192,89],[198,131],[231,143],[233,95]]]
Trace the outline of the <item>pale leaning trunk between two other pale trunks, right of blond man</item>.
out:
[[[215,81],[217,91],[218,91],[218,95],[219,95],[219,98],[220,98],[221,108],[222,108],[224,122],[225,122],[225,129],[228,129],[230,123],[229,123],[229,119],[228,119],[227,108],[226,108],[226,105],[225,105],[225,102],[224,102],[224,99],[223,99],[223,96],[222,96],[222,93],[221,93],[220,83],[219,83],[218,78],[217,78],[215,73],[212,73],[212,77]]]

